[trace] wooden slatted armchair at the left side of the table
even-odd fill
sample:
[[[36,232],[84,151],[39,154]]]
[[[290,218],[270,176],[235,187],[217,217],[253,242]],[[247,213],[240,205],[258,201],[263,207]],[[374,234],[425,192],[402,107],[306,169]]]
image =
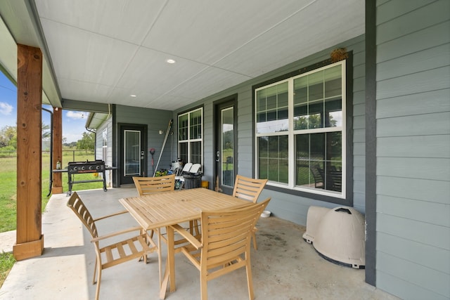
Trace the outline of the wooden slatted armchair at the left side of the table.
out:
[[[110,214],[108,216],[102,216],[100,218],[94,219],[80,199],[77,192],[74,192],[72,194],[72,196],[68,200],[67,205],[68,207],[70,207],[70,209],[72,209],[73,212],[75,212],[80,221],[82,221],[84,226],[86,226],[89,233],[91,233],[91,242],[94,244],[94,247],[96,249],[96,263],[94,266],[94,278],[92,280],[93,285],[97,283],[96,299],[98,299],[98,296],[100,294],[101,271],[103,269],[116,266],[120,263],[130,261],[131,259],[141,260],[142,257],[144,262],[147,263],[147,254],[154,252],[155,249],[157,249],[156,245],[153,243],[147,233],[143,232],[141,226],[127,228],[103,236],[98,235],[96,221],[108,219],[119,214],[128,213],[128,211],[120,211],[115,214]],[[139,232],[139,234],[134,235],[133,237],[129,237],[128,234],[128,238],[125,240],[114,242],[113,244],[108,244],[104,247],[100,246],[100,241],[106,240],[111,237],[116,237],[115,239],[117,240],[117,236],[123,235],[124,233],[131,233],[133,231],[137,231]],[[151,244],[151,247],[148,243]],[[97,278],[96,273],[98,274]]]

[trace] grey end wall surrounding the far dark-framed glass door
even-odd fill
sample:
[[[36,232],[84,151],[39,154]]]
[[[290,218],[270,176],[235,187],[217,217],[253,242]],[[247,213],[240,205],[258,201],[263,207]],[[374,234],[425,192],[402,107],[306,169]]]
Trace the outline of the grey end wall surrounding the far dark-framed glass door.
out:
[[[153,110],[149,108],[143,107],[131,107],[125,105],[116,105],[115,106],[115,143],[118,143],[120,132],[117,131],[118,123],[125,124],[146,124],[147,127],[147,172],[148,176],[153,176],[153,167],[156,168],[156,164],[158,163],[158,157],[160,156],[162,150],[162,144],[164,143],[165,133],[167,131],[167,127],[169,125],[169,120],[172,118],[172,112],[168,110]],[[172,127],[173,128],[173,127]],[[164,134],[160,134],[160,130],[164,131]],[[172,129],[173,131],[173,129]],[[172,152],[172,136],[169,134],[167,136],[167,141],[165,144],[165,148],[161,155],[160,164],[158,165],[158,169],[169,169],[172,166],[172,160],[176,159],[176,152]],[[118,146],[118,145],[116,145]],[[152,159],[150,155],[150,148],[155,148],[154,155],[154,166],[152,166]],[[119,148],[116,148],[119,149]],[[117,157],[117,156],[116,156]],[[116,158],[115,165],[118,165],[118,159]]]

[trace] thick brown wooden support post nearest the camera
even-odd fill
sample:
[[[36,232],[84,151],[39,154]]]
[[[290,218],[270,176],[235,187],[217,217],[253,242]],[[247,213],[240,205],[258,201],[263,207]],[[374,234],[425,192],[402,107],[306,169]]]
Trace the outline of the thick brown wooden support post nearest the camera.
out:
[[[17,233],[13,246],[20,261],[44,250],[41,234],[42,53],[18,44],[17,80]]]

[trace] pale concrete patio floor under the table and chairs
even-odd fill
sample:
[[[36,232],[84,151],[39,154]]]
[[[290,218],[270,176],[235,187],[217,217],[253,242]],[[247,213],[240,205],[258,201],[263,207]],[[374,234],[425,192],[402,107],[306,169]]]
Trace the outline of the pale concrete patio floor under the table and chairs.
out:
[[[123,210],[117,200],[137,195],[134,186],[78,193],[94,218]],[[0,299],[94,299],[94,246],[82,223],[66,207],[67,200],[65,194],[51,197],[42,218],[44,254],[15,263],[0,289]],[[104,234],[136,225],[125,214],[114,222],[98,223],[98,230]],[[302,240],[303,226],[271,216],[259,219],[257,227],[258,250],[252,249],[255,299],[397,299],[366,284],[364,270],[321,258]],[[6,237],[0,234],[0,251],[11,251]],[[165,249],[162,253],[165,259]],[[129,261],[103,270],[100,298],[159,299],[158,256],[149,257],[147,264]],[[182,254],[176,255],[175,266],[176,291],[167,292],[166,299],[200,299],[198,270]],[[245,270],[210,281],[208,294],[213,300],[248,299]]]

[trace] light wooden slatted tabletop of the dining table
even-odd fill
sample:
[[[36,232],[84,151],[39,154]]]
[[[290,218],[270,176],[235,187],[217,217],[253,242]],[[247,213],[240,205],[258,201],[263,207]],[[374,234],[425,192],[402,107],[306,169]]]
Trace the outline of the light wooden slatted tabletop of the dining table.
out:
[[[127,197],[119,201],[134,216],[139,225],[147,230],[200,219],[201,211],[237,208],[252,204],[252,202],[205,188]]]

